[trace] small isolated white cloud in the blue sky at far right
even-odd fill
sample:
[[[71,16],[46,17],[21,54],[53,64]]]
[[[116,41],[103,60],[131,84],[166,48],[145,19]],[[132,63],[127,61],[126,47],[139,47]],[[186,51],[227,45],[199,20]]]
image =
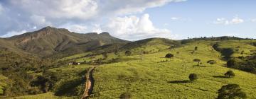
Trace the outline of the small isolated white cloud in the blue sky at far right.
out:
[[[217,18],[216,21],[213,23],[215,24],[224,24],[224,25],[233,25],[233,24],[238,24],[238,23],[243,23],[244,20],[242,18],[239,18],[238,16],[235,16],[233,19],[228,20],[225,18]]]

